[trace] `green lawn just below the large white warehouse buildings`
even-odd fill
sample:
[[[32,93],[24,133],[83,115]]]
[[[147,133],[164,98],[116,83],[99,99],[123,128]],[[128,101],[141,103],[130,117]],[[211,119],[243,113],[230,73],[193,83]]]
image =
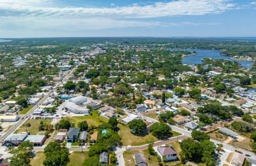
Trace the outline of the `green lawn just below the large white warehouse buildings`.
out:
[[[107,118],[104,118],[102,116],[98,117],[98,110],[94,110],[91,112],[92,116],[81,116],[81,117],[64,117],[69,119],[70,122],[74,122],[75,123],[75,127],[78,127],[78,122],[82,122],[82,121],[86,121],[88,123],[88,125],[95,125],[98,126],[99,124],[102,124],[103,122],[108,122]],[[99,121],[100,120],[100,121]]]

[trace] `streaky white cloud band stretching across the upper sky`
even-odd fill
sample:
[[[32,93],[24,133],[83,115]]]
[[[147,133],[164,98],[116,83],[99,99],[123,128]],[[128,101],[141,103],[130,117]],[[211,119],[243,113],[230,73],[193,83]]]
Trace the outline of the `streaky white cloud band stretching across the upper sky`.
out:
[[[111,5],[114,6],[114,4]],[[69,31],[115,27],[168,27],[184,24],[218,25],[220,23],[164,23],[135,20],[137,18],[217,14],[236,6],[237,4],[230,3],[229,0],[176,0],[150,3],[150,5],[132,4],[123,7],[84,8],[60,7],[52,0],[0,0],[0,25]],[[127,18],[135,20],[127,21]]]

